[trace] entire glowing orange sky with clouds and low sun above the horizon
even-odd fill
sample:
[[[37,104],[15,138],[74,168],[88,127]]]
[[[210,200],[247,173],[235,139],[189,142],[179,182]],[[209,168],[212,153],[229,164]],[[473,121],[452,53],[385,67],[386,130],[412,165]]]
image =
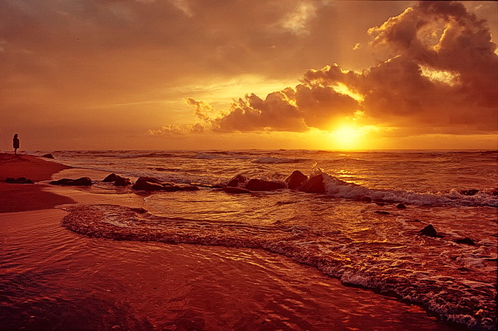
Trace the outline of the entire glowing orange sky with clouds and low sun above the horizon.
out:
[[[0,149],[496,149],[497,13],[0,0]]]

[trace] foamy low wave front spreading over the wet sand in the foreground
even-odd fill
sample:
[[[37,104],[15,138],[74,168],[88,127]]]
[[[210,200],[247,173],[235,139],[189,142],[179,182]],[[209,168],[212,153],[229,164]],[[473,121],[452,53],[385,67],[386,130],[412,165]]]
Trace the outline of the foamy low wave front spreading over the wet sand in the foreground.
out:
[[[458,268],[473,268],[477,263],[476,274],[481,274],[486,267],[482,267],[477,251],[468,247],[459,249],[450,241],[430,238],[427,239],[430,245],[421,246],[420,241],[425,239],[410,238],[410,234],[403,243],[353,241],[340,231],[313,231],[304,225],[168,218],[142,208],[115,205],[64,209],[69,213],[62,220],[62,226],[87,236],[265,249],[316,267],[344,283],[394,294],[424,306],[442,319],[465,323],[475,330],[495,330],[493,277],[469,280],[460,276]],[[439,246],[433,248],[434,245]],[[455,249],[459,249],[460,258],[451,260],[447,256],[450,254],[442,254]],[[429,256],[430,271],[420,262],[420,256]],[[432,270],[434,260],[441,266],[438,272]]]

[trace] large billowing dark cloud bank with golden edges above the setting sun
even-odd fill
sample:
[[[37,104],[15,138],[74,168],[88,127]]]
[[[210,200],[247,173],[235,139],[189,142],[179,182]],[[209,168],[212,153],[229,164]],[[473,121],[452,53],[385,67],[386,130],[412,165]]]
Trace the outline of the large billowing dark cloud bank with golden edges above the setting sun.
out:
[[[497,45],[486,20],[460,2],[420,1],[368,34],[372,50],[389,54],[377,66],[309,69],[294,88],[265,99],[248,93],[225,111],[187,98],[198,121],[150,133],[307,132],[332,130],[342,119],[399,128],[384,136],[498,131]]]

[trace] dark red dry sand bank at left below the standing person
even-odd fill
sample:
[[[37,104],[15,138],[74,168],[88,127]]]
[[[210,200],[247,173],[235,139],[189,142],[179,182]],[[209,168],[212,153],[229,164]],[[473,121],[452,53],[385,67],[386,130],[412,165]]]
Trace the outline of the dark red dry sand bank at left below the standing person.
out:
[[[0,154],[0,212],[22,212],[54,208],[75,201],[48,192],[44,184],[8,184],[5,178],[25,177],[34,182],[50,180],[51,175],[71,167],[36,156]]]

